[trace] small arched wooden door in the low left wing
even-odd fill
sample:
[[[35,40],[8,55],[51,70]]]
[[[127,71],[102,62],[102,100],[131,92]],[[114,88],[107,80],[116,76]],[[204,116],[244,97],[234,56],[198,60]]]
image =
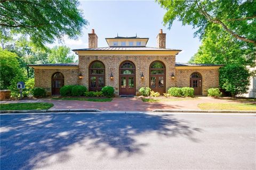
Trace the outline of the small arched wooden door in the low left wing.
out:
[[[64,85],[64,76],[61,72],[52,75],[52,95],[60,95],[60,88]]]

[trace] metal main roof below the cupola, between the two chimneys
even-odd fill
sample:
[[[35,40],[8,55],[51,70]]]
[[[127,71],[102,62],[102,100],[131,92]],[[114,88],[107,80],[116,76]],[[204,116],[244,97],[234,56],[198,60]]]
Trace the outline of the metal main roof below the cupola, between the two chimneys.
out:
[[[116,47],[98,47],[98,48],[81,48],[74,49],[72,51],[181,51],[177,49],[170,48],[157,48],[157,47],[124,47],[124,46],[116,46]]]

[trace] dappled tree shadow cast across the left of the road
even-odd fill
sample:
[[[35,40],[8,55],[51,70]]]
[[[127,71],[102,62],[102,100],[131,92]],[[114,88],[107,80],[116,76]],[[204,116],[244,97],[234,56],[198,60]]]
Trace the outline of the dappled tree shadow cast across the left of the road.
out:
[[[138,135],[157,133],[199,142],[193,134],[200,131],[173,115],[2,115],[1,169],[31,169],[60,152],[60,161],[68,160],[68,147],[73,144],[86,145],[86,149],[102,153],[111,148],[115,157],[124,153],[142,155],[147,143],[139,143],[135,139]]]

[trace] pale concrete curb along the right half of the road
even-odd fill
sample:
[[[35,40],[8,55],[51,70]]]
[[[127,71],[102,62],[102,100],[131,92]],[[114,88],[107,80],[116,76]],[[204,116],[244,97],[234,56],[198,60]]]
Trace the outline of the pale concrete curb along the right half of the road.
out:
[[[169,110],[169,109],[156,109],[152,112],[192,112],[192,113],[231,113],[231,114],[256,114],[256,110]]]

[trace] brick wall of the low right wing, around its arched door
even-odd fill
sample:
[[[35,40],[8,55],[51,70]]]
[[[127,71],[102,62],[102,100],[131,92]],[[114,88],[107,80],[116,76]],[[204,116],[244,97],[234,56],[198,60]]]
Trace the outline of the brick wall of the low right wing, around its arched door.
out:
[[[189,87],[190,75],[199,72],[202,75],[202,94],[207,95],[209,88],[219,87],[219,69],[176,69],[176,86]]]

